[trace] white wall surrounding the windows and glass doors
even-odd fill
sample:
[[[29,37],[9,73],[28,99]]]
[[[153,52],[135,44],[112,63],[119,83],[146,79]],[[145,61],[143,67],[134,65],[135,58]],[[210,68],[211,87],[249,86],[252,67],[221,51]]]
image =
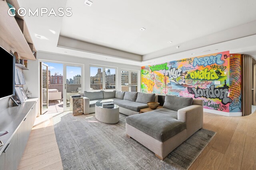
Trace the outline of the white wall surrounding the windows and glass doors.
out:
[[[102,56],[102,58],[104,60],[106,57]],[[141,69],[140,66],[112,63],[107,61],[98,61],[98,60],[92,60],[92,59],[72,57],[68,55],[58,55],[58,54],[52,54],[52,53],[38,52],[37,60],[36,61],[29,60],[28,61],[29,70],[24,70],[24,76],[26,80],[26,85],[24,86],[24,90],[28,88],[28,90],[32,93],[32,98],[39,97],[39,91],[40,91],[39,90],[39,74],[40,74],[39,62],[40,60],[84,64],[84,90],[90,90],[90,64],[117,67],[117,74],[118,74],[117,90],[121,90],[121,74],[120,74],[121,69],[138,70],[139,71],[138,90],[140,90],[140,69]]]

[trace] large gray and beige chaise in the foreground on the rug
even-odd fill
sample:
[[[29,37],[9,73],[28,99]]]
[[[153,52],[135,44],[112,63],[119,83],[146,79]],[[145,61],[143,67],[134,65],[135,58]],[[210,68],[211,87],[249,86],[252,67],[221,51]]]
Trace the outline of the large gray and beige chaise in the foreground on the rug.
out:
[[[126,117],[126,135],[164,160],[203,127],[203,101],[166,95],[162,109]]]

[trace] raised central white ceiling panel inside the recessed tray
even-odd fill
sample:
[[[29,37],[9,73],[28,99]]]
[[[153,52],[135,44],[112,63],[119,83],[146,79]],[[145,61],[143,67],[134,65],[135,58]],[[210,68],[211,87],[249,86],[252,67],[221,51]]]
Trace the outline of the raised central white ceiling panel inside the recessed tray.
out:
[[[255,0],[83,2],[67,0],[73,15],[64,17],[60,35],[138,55],[256,20]]]

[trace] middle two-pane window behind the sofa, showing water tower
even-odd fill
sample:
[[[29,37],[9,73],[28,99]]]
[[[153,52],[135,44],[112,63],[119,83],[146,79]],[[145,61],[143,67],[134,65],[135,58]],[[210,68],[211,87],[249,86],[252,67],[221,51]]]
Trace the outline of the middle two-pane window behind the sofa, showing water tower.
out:
[[[116,89],[116,68],[90,67],[90,90]]]

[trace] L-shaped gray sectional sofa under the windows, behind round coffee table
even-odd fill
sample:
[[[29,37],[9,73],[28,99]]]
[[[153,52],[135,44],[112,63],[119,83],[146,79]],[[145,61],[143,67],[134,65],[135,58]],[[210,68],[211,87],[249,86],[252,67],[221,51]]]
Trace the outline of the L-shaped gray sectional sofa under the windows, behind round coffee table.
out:
[[[84,96],[84,114],[94,113],[95,104],[103,102],[114,102],[119,106],[119,112],[125,115],[134,115],[140,112],[140,109],[148,107],[147,102],[157,102],[158,97],[155,94],[146,94],[140,92],[120,92],[120,91],[85,91]]]

